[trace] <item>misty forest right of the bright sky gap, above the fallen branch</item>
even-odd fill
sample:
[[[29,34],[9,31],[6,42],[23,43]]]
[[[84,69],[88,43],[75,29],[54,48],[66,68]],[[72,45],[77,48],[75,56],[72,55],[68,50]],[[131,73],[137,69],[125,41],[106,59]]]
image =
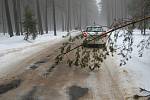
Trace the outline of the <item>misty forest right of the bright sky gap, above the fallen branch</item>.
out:
[[[100,5],[101,18],[108,26],[115,21],[130,21],[150,15],[150,0],[102,0]],[[141,27],[146,27],[144,25],[148,27],[147,22]]]

